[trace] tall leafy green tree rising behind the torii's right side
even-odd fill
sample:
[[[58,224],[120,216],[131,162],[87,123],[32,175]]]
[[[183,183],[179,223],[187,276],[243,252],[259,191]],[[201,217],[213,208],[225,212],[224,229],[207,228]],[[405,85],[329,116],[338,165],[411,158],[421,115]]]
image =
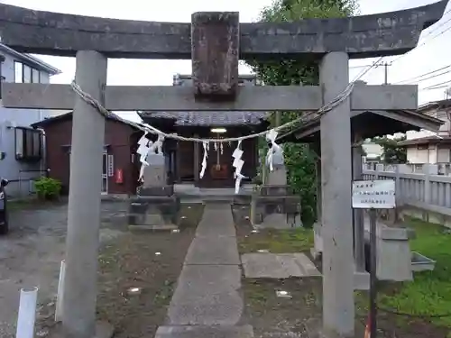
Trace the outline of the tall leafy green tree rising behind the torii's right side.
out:
[[[262,10],[260,21],[291,22],[308,18],[343,17],[354,14],[356,10],[355,0],[275,0],[271,6]],[[246,61],[265,85],[318,85],[318,59]],[[297,112],[282,112],[281,123],[298,117]],[[271,122],[274,125],[275,114],[272,114]],[[316,155],[305,144],[284,144],[283,151],[288,183],[301,196],[303,224],[311,225],[316,219],[317,209]]]

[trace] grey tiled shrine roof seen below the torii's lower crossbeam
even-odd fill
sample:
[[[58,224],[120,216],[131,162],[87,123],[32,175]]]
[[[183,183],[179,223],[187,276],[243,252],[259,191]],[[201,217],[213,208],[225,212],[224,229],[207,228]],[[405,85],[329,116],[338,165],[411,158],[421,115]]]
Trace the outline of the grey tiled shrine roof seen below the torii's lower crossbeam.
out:
[[[140,112],[144,121],[173,120],[176,126],[259,125],[268,117],[266,112]]]

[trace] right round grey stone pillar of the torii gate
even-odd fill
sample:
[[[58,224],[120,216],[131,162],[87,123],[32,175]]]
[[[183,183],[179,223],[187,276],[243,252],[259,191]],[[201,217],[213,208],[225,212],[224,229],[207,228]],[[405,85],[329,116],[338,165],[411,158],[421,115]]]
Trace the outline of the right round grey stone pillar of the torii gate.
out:
[[[349,84],[349,57],[328,53],[319,68],[324,102]],[[351,100],[321,118],[323,325],[325,332],[354,333],[353,208],[351,205]],[[338,179],[336,179],[338,178]]]

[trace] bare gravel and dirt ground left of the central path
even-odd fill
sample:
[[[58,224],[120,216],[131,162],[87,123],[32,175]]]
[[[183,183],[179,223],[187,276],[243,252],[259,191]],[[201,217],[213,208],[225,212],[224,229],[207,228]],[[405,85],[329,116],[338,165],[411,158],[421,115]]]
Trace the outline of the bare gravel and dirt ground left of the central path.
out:
[[[115,337],[152,336],[166,315],[186,251],[202,214],[184,206],[180,233],[130,233],[126,202],[103,202],[97,313],[115,325]],[[21,288],[38,287],[36,335],[53,324],[67,206],[11,208],[11,232],[0,237],[0,337],[13,338]],[[161,255],[155,255],[161,252]],[[129,288],[140,288],[130,296]]]

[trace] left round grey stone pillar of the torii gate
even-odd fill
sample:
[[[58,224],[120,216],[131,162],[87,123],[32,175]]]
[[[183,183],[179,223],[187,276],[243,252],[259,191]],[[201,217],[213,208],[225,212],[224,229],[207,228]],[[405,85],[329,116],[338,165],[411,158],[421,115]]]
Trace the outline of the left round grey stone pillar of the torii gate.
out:
[[[106,57],[97,51],[77,53],[75,79],[105,103]],[[100,227],[102,154],[105,117],[75,98],[70,156],[68,233],[63,324],[69,337],[92,338],[96,332],[97,251]]]

